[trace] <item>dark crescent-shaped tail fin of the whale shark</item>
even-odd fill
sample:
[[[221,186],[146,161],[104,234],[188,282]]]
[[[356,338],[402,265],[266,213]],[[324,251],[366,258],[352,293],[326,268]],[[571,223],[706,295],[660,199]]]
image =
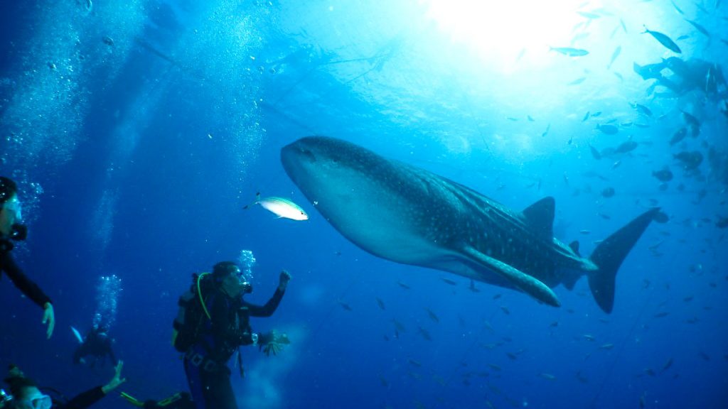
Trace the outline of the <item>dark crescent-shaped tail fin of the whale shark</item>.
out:
[[[655,207],[642,213],[627,226],[607,237],[592,253],[590,259],[599,269],[589,274],[589,288],[594,301],[607,314],[612,312],[614,306],[614,282],[617,270],[658,212],[660,208]]]

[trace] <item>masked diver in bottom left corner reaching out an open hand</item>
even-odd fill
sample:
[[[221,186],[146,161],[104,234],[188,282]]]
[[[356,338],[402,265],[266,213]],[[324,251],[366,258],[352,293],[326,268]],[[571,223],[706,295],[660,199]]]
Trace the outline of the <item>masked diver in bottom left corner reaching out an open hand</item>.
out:
[[[124,362],[119,361],[114,368],[114,377],[108,384],[96,386],[86,392],[82,392],[71,400],[66,400],[63,395],[50,388],[40,388],[31,378],[23,374],[17,366],[10,365],[8,376],[4,379],[9,386],[10,394],[5,394],[7,399],[1,409],[85,409],[105,397],[108,392],[123,384],[126,378],[122,378]],[[50,392],[46,394],[44,392]],[[51,395],[54,395],[52,397]]]

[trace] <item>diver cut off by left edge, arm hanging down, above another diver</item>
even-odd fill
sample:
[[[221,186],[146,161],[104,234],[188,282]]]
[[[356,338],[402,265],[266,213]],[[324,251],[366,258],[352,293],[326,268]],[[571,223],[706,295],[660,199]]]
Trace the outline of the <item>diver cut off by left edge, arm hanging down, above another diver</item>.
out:
[[[43,309],[43,324],[48,323],[46,335],[50,339],[55,327],[53,304],[48,295],[25,276],[10,255],[15,246],[12,242],[25,240],[28,234],[28,228],[17,223],[22,218],[20,201],[17,199],[17,185],[14,181],[0,176],[0,278],[3,272],[7,274],[23,295]]]

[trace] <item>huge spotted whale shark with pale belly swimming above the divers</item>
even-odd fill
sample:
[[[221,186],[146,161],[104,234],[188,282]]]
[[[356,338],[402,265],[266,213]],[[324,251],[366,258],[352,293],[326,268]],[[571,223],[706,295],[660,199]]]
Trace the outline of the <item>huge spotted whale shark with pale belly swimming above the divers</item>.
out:
[[[638,215],[589,257],[553,237],[555,200],[522,211],[448,178],[336,138],[309,136],[281,149],[281,162],[318,212],[368,253],[519,290],[560,306],[553,288],[587,276],[607,314],[617,270],[660,209]]]

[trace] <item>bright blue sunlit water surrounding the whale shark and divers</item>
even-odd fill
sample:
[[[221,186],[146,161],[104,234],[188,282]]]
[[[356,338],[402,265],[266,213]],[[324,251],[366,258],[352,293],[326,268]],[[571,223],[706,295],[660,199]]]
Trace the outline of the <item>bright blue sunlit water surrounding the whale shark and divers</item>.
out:
[[[253,320],[292,344],[277,357],[242,349],[240,408],[728,407],[728,257],[716,225],[728,216],[728,119],[701,90],[658,96],[633,71],[676,56],[643,25],[685,60],[728,70],[728,4],[488,3],[452,23],[436,1],[3,2],[0,175],[20,184],[30,235],[15,257],[53,299],[57,326],[47,341],[41,310],[2,280],[0,366],[68,396],[106,383],[111,365],[71,365],[70,326],[84,332],[102,309],[114,314],[120,391],[186,389],[170,346],[177,298],[192,273],[247,249],[250,301],[268,299],[280,269],[293,274],[274,316]],[[680,110],[701,132],[670,146]],[[609,123],[616,135],[596,130]],[[646,208],[670,220],[652,223],[623,263],[612,314],[585,279],[555,289],[558,309],[478,282],[475,293],[335,231],[280,164],[282,146],[314,134],[516,209],[554,196],[555,235],[579,239],[583,254]],[[627,154],[590,154],[630,138]],[[705,156],[697,172],[681,169],[680,151]],[[665,166],[675,179],[661,190],[652,171]],[[292,199],[310,220],[242,210],[257,191]],[[112,275],[115,313],[98,293]],[[130,406],[114,394],[98,407]]]

